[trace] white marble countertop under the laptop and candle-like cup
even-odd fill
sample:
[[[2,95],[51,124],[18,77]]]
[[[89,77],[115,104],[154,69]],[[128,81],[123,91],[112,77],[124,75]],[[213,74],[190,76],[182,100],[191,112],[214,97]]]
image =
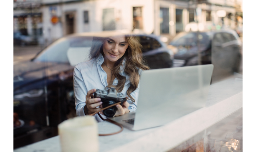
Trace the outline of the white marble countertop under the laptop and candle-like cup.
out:
[[[235,75],[211,84],[206,106],[164,126],[99,137],[100,152],[167,151],[193,137],[205,128],[243,107],[243,78]],[[110,122],[98,123],[99,133],[116,132],[120,128]],[[14,152],[61,152],[59,136],[36,142]]]

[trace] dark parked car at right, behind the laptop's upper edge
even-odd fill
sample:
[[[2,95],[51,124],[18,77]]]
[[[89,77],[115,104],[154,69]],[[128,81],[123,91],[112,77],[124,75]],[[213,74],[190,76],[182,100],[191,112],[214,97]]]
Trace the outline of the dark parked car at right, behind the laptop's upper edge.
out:
[[[168,48],[175,53],[173,67],[213,64],[212,81],[219,81],[233,72],[239,72],[241,46],[242,42],[235,31],[217,30],[181,32],[169,43]]]

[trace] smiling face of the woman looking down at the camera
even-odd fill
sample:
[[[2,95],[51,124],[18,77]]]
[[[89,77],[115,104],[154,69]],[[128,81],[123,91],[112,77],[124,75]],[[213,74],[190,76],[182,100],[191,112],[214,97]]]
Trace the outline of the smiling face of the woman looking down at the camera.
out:
[[[116,62],[120,59],[126,49],[128,48],[128,42],[125,36],[111,36],[103,42],[103,53],[106,62]]]

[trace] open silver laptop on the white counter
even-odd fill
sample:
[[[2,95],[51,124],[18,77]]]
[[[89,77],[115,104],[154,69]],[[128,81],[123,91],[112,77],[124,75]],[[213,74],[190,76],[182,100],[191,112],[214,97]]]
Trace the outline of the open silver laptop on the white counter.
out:
[[[108,118],[137,131],[162,126],[205,106],[213,64],[145,70],[137,110]]]

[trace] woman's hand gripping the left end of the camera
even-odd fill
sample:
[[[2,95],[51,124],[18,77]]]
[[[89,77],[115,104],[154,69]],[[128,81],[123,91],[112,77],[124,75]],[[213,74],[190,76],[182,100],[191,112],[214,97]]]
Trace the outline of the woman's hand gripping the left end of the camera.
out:
[[[97,112],[98,110],[102,109],[102,102],[100,101],[100,98],[92,98],[92,94],[95,91],[96,89],[89,90],[86,95],[86,105],[84,108],[86,115],[93,114],[94,112]]]

